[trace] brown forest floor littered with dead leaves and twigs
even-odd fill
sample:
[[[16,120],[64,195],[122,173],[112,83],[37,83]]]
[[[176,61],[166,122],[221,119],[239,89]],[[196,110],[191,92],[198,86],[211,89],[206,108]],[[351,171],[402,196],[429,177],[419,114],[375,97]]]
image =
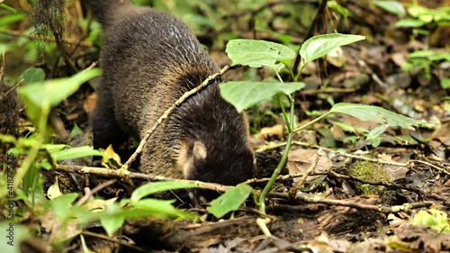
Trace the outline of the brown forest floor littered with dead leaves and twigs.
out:
[[[278,10],[276,5],[271,7]],[[368,40],[335,50],[305,68],[301,80],[307,86],[296,95],[298,125],[311,122],[329,110],[330,104],[347,102],[381,106],[430,122],[434,128],[390,128],[375,141],[368,140],[367,133],[377,123],[332,115],[294,135],[286,166],[266,198],[266,214],[259,212],[251,197],[220,220],[208,213],[208,203],[177,202],[198,213],[201,221],[125,221],[121,236],[113,239],[103,237],[103,228],[92,224],[81,232],[88,248],[112,252],[120,239],[120,252],[450,252],[450,27],[433,27],[428,35],[421,35],[395,27],[399,18],[374,5],[347,7],[353,13],[347,33],[362,34]],[[250,30],[236,33],[254,39]],[[271,34],[254,35],[277,41]],[[302,41],[296,38],[293,43]],[[202,34],[199,39],[214,38]],[[220,67],[229,64],[223,51],[211,51]],[[418,51],[423,54],[411,56]],[[95,59],[92,53],[69,57],[86,67]],[[7,67],[6,74],[14,73],[13,68]],[[54,72],[51,66],[46,68]],[[225,79],[248,76],[268,79],[274,73],[237,68]],[[62,122],[59,130],[69,132],[76,123],[87,131],[95,100],[92,87],[82,86],[59,104],[55,110]],[[272,175],[284,150],[284,122],[278,111],[267,102],[247,112],[257,153],[257,178],[261,179],[251,184],[257,190],[264,187],[262,178]],[[30,129],[23,113],[20,124]],[[90,137],[84,134],[83,138]],[[76,146],[78,141],[67,143]],[[90,141],[82,140],[84,144]],[[94,166],[92,160],[67,163],[74,164]],[[61,171],[44,175],[46,190],[58,175],[67,176],[66,181],[59,179],[64,193],[84,194],[78,183],[85,180],[82,174],[76,178]],[[126,197],[130,187],[126,180],[117,181],[99,194]],[[261,230],[258,218],[270,220],[268,231]],[[75,252],[80,245],[74,239],[62,251]],[[27,247],[33,248],[32,241]]]

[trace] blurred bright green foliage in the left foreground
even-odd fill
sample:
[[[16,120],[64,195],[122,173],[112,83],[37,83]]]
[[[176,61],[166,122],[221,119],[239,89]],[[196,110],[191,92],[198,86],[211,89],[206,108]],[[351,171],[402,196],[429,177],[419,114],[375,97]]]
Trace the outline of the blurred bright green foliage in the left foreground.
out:
[[[58,229],[55,227],[56,230],[51,231],[49,243],[55,249],[61,249],[81,231],[80,229],[92,221],[100,221],[111,236],[121,228],[125,219],[148,216],[196,219],[193,213],[175,209],[173,201],[144,198],[148,194],[162,191],[197,187],[184,182],[142,185],[133,192],[130,199],[122,199],[117,203],[115,198],[76,202],[78,194],[61,194],[57,180],[55,185],[49,187],[47,196],[50,199],[46,199],[40,176],[42,169],[52,169],[61,160],[103,156],[102,152],[89,146],[71,148],[64,144],[50,143],[52,130],[48,124],[49,111],[52,107],[72,95],[85,81],[99,74],[99,69],[94,68],[74,77],[44,80],[40,68],[29,68],[23,72],[21,76],[24,80],[23,86],[18,89],[18,94],[23,99],[28,119],[36,130],[29,136],[20,138],[0,134],[0,141],[13,147],[7,151],[8,170],[5,173],[0,172],[0,185],[3,185],[0,203],[2,206],[4,203],[10,203],[8,221],[0,222],[2,228],[12,227],[11,224],[22,221],[20,217],[25,216],[25,213],[31,213],[37,221],[51,220],[54,224],[58,224],[56,225]],[[15,203],[19,201],[23,202],[23,208],[20,210],[15,208]],[[20,229],[26,230],[23,227]],[[29,232],[24,231],[23,235],[25,234]],[[10,240],[11,244],[14,244],[13,241]],[[20,243],[15,243],[15,252],[20,252],[19,248]]]

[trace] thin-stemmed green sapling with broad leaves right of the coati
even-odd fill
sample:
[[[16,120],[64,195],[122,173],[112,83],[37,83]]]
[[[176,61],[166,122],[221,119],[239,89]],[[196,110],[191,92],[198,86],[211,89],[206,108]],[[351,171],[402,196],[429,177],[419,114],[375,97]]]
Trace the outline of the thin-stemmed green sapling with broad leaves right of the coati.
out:
[[[277,101],[283,111],[283,117],[288,132],[287,144],[280,164],[275,168],[270,181],[259,196],[258,204],[260,212],[266,213],[266,194],[270,191],[272,185],[275,183],[276,177],[284,167],[287,160],[287,154],[292,145],[294,132],[305,129],[315,122],[320,122],[322,119],[333,113],[347,113],[364,121],[379,123],[380,126],[373,131],[370,131],[368,134],[370,138],[374,140],[389,127],[400,126],[403,128],[414,129],[414,126],[428,126],[427,122],[413,120],[403,115],[392,113],[381,107],[340,103],[335,104],[328,113],[320,115],[318,118],[301,127],[294,128],[294,93],[304,86],[304,84],[298,82],[300,75],[302,74],[302,69],[312,60],[326,56],[333,49],[364,39],[365,37],[363,36],[334,33],[316,36],[305,41],[302,44],[302,48],[299,50],[299,54],[302,57],[300,65],[301,70],[296,76],[293,75],[293,69],[290,68],[290,64],[296,56],[296,53],[293,50],[268,41],[229,41],[227,53],[232,60],[232,65],[243,65],[252,68],[272,68],[279,81],[278,83],[228,82],[220,85],[220,94],[230,104],[233,104],[238,112],[273,96],[278,98]],[[290,77],[293,79],[292,83],[285,83],[280,76],[280,72],[284,68],[287,69]],[[290,103],[288,108],[289,111],[284,109],[284,105],[281,102],[281,96],[287,96]]]

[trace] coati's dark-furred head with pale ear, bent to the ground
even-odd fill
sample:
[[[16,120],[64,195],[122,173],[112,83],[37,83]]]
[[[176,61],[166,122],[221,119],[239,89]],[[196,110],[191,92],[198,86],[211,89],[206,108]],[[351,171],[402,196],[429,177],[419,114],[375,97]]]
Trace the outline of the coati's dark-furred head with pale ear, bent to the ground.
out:
[[[255,176],[247,118],[220,97],[217,84],[193,95],[173,115],[167,127],[180,131],[175,161],[186,179],[237,185]]]

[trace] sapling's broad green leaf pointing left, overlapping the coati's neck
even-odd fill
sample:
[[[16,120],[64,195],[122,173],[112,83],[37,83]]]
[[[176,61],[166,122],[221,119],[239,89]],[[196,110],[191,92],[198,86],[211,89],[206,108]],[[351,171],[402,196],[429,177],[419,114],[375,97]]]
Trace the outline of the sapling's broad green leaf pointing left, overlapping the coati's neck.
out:
[[[292,94],[302,89],[303,83],[228,82],[220,84],[220,95],[238,112],[271,99],[278,93]]]

